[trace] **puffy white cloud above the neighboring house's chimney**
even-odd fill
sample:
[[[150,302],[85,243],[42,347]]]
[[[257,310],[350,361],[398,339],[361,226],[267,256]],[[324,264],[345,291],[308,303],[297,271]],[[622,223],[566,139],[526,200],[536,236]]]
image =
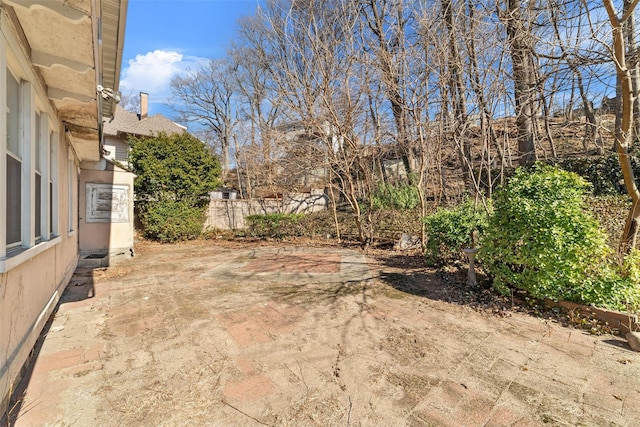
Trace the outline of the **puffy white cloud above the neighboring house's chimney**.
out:
[[[146,92],[150,104],[166,103],[171,96],[171,78],[207,61],[206,58],[185,56],[174,50],[138,54],[122,70],[120,91],[134,94]]]

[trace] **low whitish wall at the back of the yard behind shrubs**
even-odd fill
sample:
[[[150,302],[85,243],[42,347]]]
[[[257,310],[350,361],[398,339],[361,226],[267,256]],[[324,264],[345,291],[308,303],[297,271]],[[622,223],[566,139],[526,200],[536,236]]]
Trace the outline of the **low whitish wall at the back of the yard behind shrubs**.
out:
[[[238,230],[246,227],[245,217],[272,213],[311,213],[327,209],[324,194],[289,194],[282,199],[211,199],[205,229]]]

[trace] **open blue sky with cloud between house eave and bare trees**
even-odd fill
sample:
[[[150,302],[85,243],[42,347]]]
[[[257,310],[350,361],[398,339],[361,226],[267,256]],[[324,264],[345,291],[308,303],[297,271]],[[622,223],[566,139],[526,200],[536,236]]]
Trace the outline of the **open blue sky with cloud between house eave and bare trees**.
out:
[[[258,0],[129,0],[120,91],[149,94],[149,114],[163,106],[169,82],[187,68],[225,56],[242,16]]]

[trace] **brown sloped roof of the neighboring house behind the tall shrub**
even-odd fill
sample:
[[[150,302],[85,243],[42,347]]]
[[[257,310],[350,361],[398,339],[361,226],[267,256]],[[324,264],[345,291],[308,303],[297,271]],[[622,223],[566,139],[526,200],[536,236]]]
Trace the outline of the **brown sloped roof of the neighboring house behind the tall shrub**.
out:
[[[103,129],[106,136],[119,136],[123,134],[152,136],[161,132],[170,135],[187,131],[185,126],[172,122],[162,114],[144,117],[127,111],[120,105],[116,106],[113,119],[107,120],[104,123]]]

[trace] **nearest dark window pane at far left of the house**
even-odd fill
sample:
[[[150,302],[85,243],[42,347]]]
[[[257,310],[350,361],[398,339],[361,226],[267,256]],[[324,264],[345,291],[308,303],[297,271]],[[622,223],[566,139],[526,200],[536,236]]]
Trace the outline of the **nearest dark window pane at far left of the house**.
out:
[[[20,82],[7,70],[7,249],[22,242],[22,138],[20,137]]]

